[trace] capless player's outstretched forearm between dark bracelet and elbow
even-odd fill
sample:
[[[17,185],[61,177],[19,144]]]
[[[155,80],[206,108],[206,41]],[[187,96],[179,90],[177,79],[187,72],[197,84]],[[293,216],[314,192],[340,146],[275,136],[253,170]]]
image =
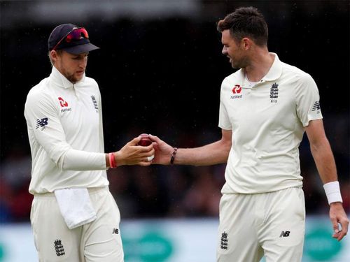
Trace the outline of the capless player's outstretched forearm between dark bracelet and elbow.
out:
[[[219,140],[203,147],[179,148],[174,158],[174,164],[209,166],[217,163],[226,163],[230,147],[230,143],[224,143],[222,140]]]

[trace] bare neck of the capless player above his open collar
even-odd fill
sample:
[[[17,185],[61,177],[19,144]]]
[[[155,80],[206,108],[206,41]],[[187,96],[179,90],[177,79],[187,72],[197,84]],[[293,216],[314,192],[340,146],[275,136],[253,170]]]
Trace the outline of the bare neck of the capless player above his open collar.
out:
[[[274,64],[274,54],[270,54],[267,48],[256,48],[251,57],[250,64],[244,68],[248,80],[260,81]]]

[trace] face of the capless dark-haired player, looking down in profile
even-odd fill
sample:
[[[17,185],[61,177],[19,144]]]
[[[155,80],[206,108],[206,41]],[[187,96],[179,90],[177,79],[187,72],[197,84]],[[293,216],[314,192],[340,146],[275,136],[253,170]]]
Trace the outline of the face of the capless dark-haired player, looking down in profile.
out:
[[[221,43],[223,43],[223,55],[230,59],[233,68],[245,68],[248,65],[248,59],[242,43],[237,43],[230,34],[230,30],[224,30],[221,34]]]

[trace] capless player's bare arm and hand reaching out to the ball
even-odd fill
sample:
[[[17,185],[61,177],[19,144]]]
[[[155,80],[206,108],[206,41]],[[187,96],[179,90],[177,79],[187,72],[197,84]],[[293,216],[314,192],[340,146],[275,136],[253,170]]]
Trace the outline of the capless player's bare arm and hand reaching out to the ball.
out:
[[[155,159],[153,163],[169,165],[174,147],[168,145],[157,136],[150,136],[155,143]],[[228,161],[232,145],[232,131],[222,129],[221,140],[195,148],[179,148],[174,157],[176,165],[209,166]]]

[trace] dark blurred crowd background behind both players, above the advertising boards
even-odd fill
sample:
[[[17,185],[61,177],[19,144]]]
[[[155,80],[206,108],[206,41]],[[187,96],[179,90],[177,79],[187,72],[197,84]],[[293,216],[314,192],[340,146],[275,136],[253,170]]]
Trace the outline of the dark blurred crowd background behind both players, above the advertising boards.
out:
[[[233,73],[216,22],[255,6],[269,24],[269,50],[310,73],[350,209],[349,1],[1,1],[0,222],[29,221],[31,157],[23,110],[29,89],[50,74],[47,39],[58,24],[87,29],[101,49],[87,76],[102,92],[106,152],[140,133],[176,147],[221,138],[221,81]],[[305,137],[300,145],[307,214],[326,214]],[[122,218],[218,217],[225,165],[122,166],[109,170]]]

